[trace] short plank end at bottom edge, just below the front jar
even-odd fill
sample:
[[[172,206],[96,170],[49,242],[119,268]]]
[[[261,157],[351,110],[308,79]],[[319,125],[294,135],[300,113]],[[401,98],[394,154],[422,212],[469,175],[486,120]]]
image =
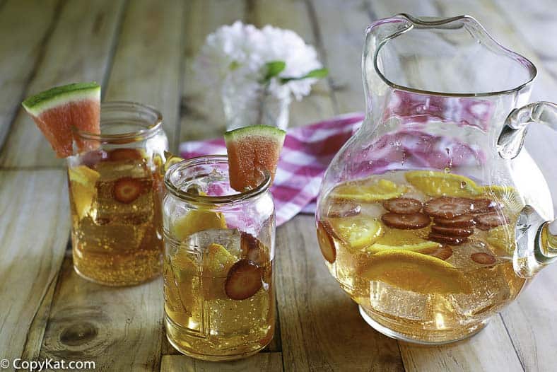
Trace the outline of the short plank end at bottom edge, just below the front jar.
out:
[[[247,359],[229,362],[198,361],[184,355],[165,355],[160,372],[243,372],[283,371],[280,353],[259,353]],[[288,369],[286,369],[288,371]]]

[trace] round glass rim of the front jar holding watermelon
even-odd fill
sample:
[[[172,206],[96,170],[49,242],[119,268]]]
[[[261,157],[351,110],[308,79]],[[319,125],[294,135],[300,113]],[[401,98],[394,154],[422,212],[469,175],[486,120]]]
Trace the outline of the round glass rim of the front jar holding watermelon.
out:
[[[221,196],[211,196],[211,195],[196,195],[189,192],[185,192],[177,187],[172,180],[170,180],[170,176],[178,172],[180,170],[184,170],[187,168],[192,168],[197,165],[208,165],[208,164],[228,164],[228,156],[227,155],[205,155],[205,156],[196,156],[194,158],[189,158],[184,161],[180,161],[180,163],[176,163],[172,165],[165,173],[165,187],[172,194],[173,196],[177,197],[178,199],[184,202],[190,202],[194,204],[233,204],[238,202],[245,202],[249,199],[253,199],[254,197],[263,194],[269,187],[271,186],[271,175],[269,172],[265,171],[264,178],[262,182],[259,183],[256,187],[251,190],[247,190],[245,192],[239,192],[238,194],[230,194],[230,195],[221,195]]]

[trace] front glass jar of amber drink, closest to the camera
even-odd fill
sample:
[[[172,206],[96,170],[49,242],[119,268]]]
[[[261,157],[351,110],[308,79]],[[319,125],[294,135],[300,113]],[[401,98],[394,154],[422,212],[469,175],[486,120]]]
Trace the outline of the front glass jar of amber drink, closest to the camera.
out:
[[[197,359],[240,359],[274,335],[275,211],[269,174],[247,192],[228,179],[226,156],[168,170],[163,202],[165,327]]]

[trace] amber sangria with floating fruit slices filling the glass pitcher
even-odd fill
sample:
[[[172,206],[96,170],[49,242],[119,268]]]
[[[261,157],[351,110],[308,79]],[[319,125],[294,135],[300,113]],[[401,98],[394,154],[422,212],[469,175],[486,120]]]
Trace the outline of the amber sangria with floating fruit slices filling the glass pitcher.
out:
[[[329,272],[387,335],[422,343],[467,337],[512,301],[512,187],[397,170],[344,182],[322,197],[319,246]]]

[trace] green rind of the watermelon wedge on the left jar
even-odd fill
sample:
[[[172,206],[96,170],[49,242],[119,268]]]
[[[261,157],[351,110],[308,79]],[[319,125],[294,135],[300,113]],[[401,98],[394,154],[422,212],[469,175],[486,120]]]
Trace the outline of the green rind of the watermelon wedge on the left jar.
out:
[[[21,103],[25,110],[33,116],[40,116],[41,112],[78,100],[99,100],[100,86],[95,81],[90,83],[72,83],[57,86],[32,95]]]

